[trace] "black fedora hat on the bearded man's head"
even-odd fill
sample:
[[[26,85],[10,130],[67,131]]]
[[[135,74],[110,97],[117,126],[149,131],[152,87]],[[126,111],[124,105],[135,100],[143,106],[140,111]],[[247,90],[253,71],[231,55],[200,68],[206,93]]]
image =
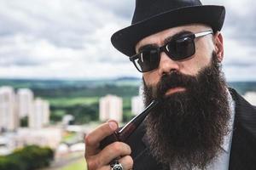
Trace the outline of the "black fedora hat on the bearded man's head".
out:
[[[131,56],[143,37],[193,23],[220,31],[224,17],[224,6],[202,5],[200,0],[137,0],[131,26],[115,32],[111,42],[121,53]]]

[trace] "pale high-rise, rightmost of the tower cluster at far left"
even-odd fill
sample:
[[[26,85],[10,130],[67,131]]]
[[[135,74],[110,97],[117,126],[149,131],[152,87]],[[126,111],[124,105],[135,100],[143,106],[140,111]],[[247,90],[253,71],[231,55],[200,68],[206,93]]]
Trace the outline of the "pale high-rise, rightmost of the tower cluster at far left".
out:
[[[41,128],[49,124],[49,103],[44,99],[35,99],[32,113],[28,116],[31,128]]]

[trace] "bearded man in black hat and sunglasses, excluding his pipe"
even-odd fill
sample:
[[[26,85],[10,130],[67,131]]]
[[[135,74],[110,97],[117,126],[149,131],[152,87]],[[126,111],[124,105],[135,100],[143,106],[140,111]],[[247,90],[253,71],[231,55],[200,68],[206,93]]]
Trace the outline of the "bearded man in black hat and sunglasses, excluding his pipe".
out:
[[[221,72],[224,15],[199,0],[137,0],[112,43],[143,72],[145,105],[160,104],[126,144],[99,149],[118,128],[112,120],[91,132],[89,170],[256,169],[256,109]]]

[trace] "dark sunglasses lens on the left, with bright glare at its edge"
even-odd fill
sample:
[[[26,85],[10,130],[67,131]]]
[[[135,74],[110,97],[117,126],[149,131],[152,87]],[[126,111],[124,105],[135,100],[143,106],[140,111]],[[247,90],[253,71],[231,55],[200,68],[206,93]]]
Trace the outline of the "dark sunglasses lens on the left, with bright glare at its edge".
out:
[[[138,54],[133,61],[138,71],[146,72],[156,69],[159,65],[159,53],[157,49],[145,50]]]

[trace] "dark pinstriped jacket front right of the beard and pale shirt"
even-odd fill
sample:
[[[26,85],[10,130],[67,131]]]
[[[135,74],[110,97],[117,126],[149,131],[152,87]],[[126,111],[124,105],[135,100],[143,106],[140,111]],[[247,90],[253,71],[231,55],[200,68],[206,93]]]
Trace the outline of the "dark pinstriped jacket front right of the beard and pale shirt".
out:
[[[230,89],[236,101],[236,116],[230,152],[230,170],[256,169],[256,110]]]

